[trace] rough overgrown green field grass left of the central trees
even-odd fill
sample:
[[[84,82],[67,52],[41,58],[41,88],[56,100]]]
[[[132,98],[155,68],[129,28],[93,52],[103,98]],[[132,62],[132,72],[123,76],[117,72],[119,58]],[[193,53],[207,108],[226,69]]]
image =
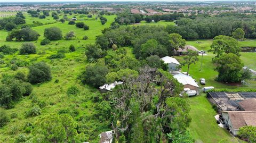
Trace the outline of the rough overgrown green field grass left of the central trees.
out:
[[[40,21],[42,23],[47,22],[47,19],[50,21],[55,21],[52,17],[48,16],[46,19],[32,18],[28,15],[26,16],[27,23],[33,21]],[[74,15],[69,15],[73,17]],[[33,27],[41,36],[37,41],[32,41],[36,45],[37,53],[45,52],[44,54],[31,54],[31,55],[19,55],[18,52],[13,55],[5,55],[4,60],[10,62],[12,58],[18,58],[24,61],[39,62],[45,61],[51,66],[52,71],[52,80],[42,84],[34,85],[34,92],[36,93],[37,100],[45,101],[47,106],[42,109],[42,115],[49,113],[58,113],[59,110],[74,108],[78,111],[78,115],[75,120],[79,120],[80,117],[86,116],[87,122],[84,124],[86,126],[86,134],[89,137],[90,142],[98,142],[98,134],[102,131],[109,130],[108,124],[106,122],[99,122],[98,119],[93,117],[95,113],[94,107],[97,104],[93,103],[91,97],[95,94],[99,94],[99,91],[90,86],[84,86],[77,82],[78,74],[84,70],[87,62],[84,55],[84,46],[87,44],[94,44],[96,36],[101,34],[101,30],[110,26],[110,23],[114,21],[115,15],[104,15],[108,22],[105,25],[101,25],[100,20],[95,20],[94,18],[87,19],[87,17],[77,18],[77,22],[84,22],[90,27],[90,30],[78,29],[75,25],[68,25],[68,22],[65,23],[56,22],[53,24],[46,24],[40,27]],[[61,18],[61,16],[60,16]],[[68,31],[73,30],[76,34],[76,37],[72,40],[57,40],[52,41],[51,45],[41,46],[40,42],[43,37],[43,32],[45,28],[49,27],[59,27],[62,30],[62,35],[65,35]],[[7,36],[7,31],[0,31],[0,45],[9,45],[11,47],[20,48],[23,41],[5,41]],[[82,40],[84,36],[88,36],[88,40]],[[47,57],[51,54],[57,53],[60,49],[65,49],[68,51],[70,44],[73,44],[76,47],[76,51],[69,53],[67,52],[66,57],[63,59],[49,60]],[[15,73],[10,70],[10,68],[4,67],[1,65],[0,73]],[[28,72],[27,68],[19,68],[18,71]],[[1,79],[1,77],[0,77]],[[58,83],[55,83],[55,80],[59,80]],[[66,94],[67,89],[76,85],[81,93],[77,96],[68,96]],[[12,113],[17,113],[17,119],[11,119],[11,121],[4,127],[0,129],[0,142],[14,142],[15,137],[20,133],[26,133],[24,128],[26,123],[33,123],[37,117],[25,117],[25,112],[28,111],[31,107],[37,105],[35,100],[30,99],[29,97],[23,98],[20,102],[15,105],[15,108],[7,110],[7,113],[11,115]]]

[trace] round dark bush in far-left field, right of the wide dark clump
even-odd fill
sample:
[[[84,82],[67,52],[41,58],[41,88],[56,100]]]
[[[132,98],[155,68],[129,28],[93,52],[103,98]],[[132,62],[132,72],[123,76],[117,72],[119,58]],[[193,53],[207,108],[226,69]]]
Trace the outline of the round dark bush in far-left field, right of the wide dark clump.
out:
[[[44,37],[49,40],[59,40],[62,38],[62,32],[57,27],[45,28]]]

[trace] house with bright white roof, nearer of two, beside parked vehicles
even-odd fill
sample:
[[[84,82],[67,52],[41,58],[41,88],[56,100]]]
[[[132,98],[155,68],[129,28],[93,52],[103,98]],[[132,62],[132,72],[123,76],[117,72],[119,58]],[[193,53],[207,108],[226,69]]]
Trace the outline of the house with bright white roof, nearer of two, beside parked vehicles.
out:
[[[177,79],[178,82],[182,83],[184,88],[189,88],[190,90],[198,91],[199,86],[197,85],[196,81],[192,77],[180,73],[180,74],[173,75],[173,78]]]

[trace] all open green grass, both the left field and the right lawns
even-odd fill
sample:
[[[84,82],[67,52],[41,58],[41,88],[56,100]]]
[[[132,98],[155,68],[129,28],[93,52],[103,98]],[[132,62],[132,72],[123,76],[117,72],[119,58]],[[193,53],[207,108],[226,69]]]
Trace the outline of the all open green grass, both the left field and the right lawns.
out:
[[[63,14],[62,14],[63,15]],[[51,16],[46,17],[46,19],[38,19],[25,14],[27,23],[33,23],[33,21],[40,21],[42,23],[48,22],[55,22],[52,24],[45,24],[39,27],[33,27],[41,36],[37,41],[33,41],[33,43],[37,47],[37,53],[45,52],[45,54],[31,54],[31,55],[19,55],[18,53],[13,55],[6,55],[4,60],[10,61],[12,58],[16,57],[22,59],[24,61],[30,62],[39,62],[45,61],[47,64],[51,66],[52,71],[52,80],[49,82],[45,82],[42,84],[34,85],[34,92],[36,93],[36,97],[38,100],[43,100],[47,103],[47,106],[43,108],[42,114],[49,114],[53,112],[58,112],[61,109],[67,108],[75,108],[79,113],[76,117],[78,120],[79,117],[86,116],[88,117],[88,121],[86,122],[86,131],[87,135],[90,134],[90,142],[98,142],[97,137],[98,134],[102,131],[109,130],[109,127],[105,122],[99,122],[98,120],[94,119],[93,114],[95,112],[95,103],[92,102],[91,97],[95,94],[98,94],[99,91],[95,88],[92,88],[87,85],[81,85],[77,82],[76,78],[82,70],[84,70],[87,61],[84,55],[84,46],[87,44],[93,44],[95,42],[95,38],[98,35],[101,35],[101,30],[110,26],[110,23],[114,21],[115,15],[104,15],[108,22],[105,25],[101,25],[100,20],[95,20],[95,15],[93,18],[88,19],[87,17],[80,18],[78,14],[76,15],[68,15],[69,18],[73,16],[77,17],[77,22],[81,21],[87,24],[90,27],[90,30],[85,31],[83,29],[78,29],[75,25],[69,25],[66,21],[65,23],[56,22],[53,20]],[[62,18],[62,16],[60,16]],[[151,22],[146,23],[142,21],[139,25],[163,25],[166,26],[167,24],[174,24],[174,22],[165,22],[160,21],[157,23]],[[72,40],[57,40],[52,41],[51,45],[41,46],[40,41],[44,39],[43,32],[45,28],[49,27],[58,27],[62,30],[62,35],[65,35],[68,31],[74,31],[76,37]],[[5,41],[7,36],[7,31],[0,30],[0,46],[2,45],[9,45],[11,47],[20,48],[21,42]],[[88,40],[82,40],[84,36],[89,37]],[[199,43],[198,43],[199,41]],[[194,40],[194,41],[187,41],[188,45],[193,45],[197,47],[199,50],[207,51],[210,48],[212,40]],[[59,49],[65,49],[68,51],[68,47],[70,44],[73,44],[76,47],[76,52],[69,53],[67,52],[65,55],[66,57],[63,59],[58,60],[49,60],[47,57],[51,54],[57,53]],[[246,40],[246,41],[239,41],[241,46],[251,46],[256,44],[256,40]],[[130,56],[132,54],[131,48],[126,48],[127,54]],[[110,51],[111,52],[111,51]],[[256,88],[256,81],[250,80],[247,81],[247,85],[241,86],[228,86],[222,83],[219,83],[214,80],[217,77],[218,73],[214,71],[214,65],[211,63],[211,58],[214,56],[212,53],[207,53],[208,56],[203,57],[203,64],[202,70],[199,71],[201,61],[197,62],[196,65],[191,65],[190,72],[197,81],[199,78],[206,79],[206,86],[214,86],[215,88],[229,88],[229,89],[255,89]],[[178,60],[182,60],[182,57],[176,57]],[[245,66],[249,66],[252,69],[256,68],[256,55],[255,53],[241,53],[241,59]],[[9,73],[13,74],[14,71],[10,70],[10,68],[4,67],[2,65],[0,68],[0,73]],[[186,66],[182,68],[183,71],[187,71]],[[19,68],[18,71],[28,72],[27,68]],[[1,77],[0,77],[1,78]],[[58,83],[55,83],[55,80],[59,80]],[[76,85],[82,92],[77,95],[76,97],[69,97],[66,94],[67,89],[72,86]],[[193,118],[189,130],[192,136],[201,142],[209,142],[215,143],[223,138],[227,138],[229,141],[236,142],[237,138],[233,138],[230,134],[222,129],[219,128],[218,125],[215,123],[214,115],[216,114],[215,111],[212,109],[210,103],[205,98],[205,95],[197,96],[195,98],[188,98],[190,105],[191,105],[191,116]],[[34,99],[30,97],[23,98],[20,102],[15,105],[15,108],[7,110],[7,113],[10,115],[12,113],[17,113],[17,119],[11,119],[11,121],[4,127],[0,129],[0,142],[14,142],[15,137],[20,133],[24,132],[24,127],[26,123],[33,123],[37,117],[25,117],[25,112],[29,110],[34,105]]]

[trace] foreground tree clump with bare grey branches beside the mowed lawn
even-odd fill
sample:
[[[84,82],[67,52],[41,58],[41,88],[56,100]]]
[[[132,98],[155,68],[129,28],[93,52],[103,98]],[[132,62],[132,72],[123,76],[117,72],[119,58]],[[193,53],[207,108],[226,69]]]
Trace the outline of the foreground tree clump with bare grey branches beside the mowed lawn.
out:
[[[181,90],[163,70],[146,67],[138,78],[127,78],[110,96],[116,141],[161,142],[166,133],[185,133],[191,117],[186,100],[176,97]]]

